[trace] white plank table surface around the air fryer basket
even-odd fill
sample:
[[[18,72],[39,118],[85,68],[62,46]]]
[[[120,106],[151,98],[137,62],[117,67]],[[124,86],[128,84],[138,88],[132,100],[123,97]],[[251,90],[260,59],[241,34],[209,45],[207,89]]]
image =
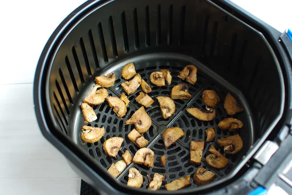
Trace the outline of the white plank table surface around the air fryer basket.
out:
[[[39,131],[32,83],[49,36],[83,2],[1,2],[0,194],[79,194],[79,176]],[[233,2],[281,32],[292,29],[291,0]]]

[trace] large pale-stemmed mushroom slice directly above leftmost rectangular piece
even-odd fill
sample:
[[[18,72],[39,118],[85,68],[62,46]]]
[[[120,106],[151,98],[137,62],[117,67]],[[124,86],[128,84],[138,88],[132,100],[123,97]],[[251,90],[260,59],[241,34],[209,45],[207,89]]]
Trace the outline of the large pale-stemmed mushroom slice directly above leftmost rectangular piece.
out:
[[[88,103],[89,105],[99,105],[104,102],[108,92],[104,88],[98,89],[100,87],[100,85],[94,85],[93,89],[89,92],[83,102]]]

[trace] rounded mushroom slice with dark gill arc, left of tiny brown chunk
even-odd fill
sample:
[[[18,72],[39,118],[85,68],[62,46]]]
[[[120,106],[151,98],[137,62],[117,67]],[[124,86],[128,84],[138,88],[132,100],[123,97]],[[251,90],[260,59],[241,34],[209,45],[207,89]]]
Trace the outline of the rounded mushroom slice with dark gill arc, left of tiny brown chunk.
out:
[[[133,158],[133,163],[143,164],[145,166],[153,168],[154,152],[146,147],[140,148]]]

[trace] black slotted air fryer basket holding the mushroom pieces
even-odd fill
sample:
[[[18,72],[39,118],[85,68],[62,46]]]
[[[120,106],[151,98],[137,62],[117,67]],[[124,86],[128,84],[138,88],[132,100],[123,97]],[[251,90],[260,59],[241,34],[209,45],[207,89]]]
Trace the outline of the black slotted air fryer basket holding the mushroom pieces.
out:
[[[68,16],[50,38],[40,58],[35,77],[35,103],[38,122],[44,136],[70,161],[81,177],[96,189],[105,185],[127,193],[145,192],[147,174],[166,174],[166,182],[193,175],[199,166],[216,173],[214,182],[197,187],[192,182],[181,192],[210,189],[234,177],[263,143],[279,122],[284,110],[284,78],[279,59],[272,50],[271,41],[258,29],[246,24],[221,1],[92,1],[82,5]],[[270,41],[270,42],[269,42]],[[153,71],[166,68],[173,82],[166,87],[152,86],[149,95],[154,103],[146,112],[152,126],[143,134],[149,140],[147,147],[155,153],[154,168],[131,164],[117,178],[109,177],[106,170],[121,159],[122,151],[132,155],[138,148],[128,139],[133,125],[124,122],[140,105],[135,101],[139,88],[128,95],[131,103],[121,119],[106,102],[93,106],[98,119],[87,125],[105,127],[100,141],[85,144],[80,138],[84,118],[80,103],[94,85],[94,77],[115,72],[117,80],[109,88],[109,95],[120,96],[123,91],[121,68],[129,62],[135,64],[137,73],[149,81]],[[188,83],[190,100],[175,100],[175,114],[163,119],[155,97],[170,96],[171,88],[187,83],[177,77],[187,64],[198,68],[198,81]],[[243,121],[237,131],[218,129],[218,123],[227,117],[221,102],[216,107],[216,117],[201,122],[189,115],[185,108],[204,108],[202,91],[214,89],[223,101],[232,93],[244,107],[244,112],[233,117]],[[181,127],[185,136],[167,150],[161,134],[167,127]],[[206,143],[201,165],[190,164],[189,143],[205,140],[205,129],[213,127],[216,139],[239,133],[244,147],[238,154],[226,155],[229,165],[214,170],[206,164],[210,144]],[[124,138],[117,159],[109,157],[102,149],[103,142],[114,136]],[[220,152],[223,153],[222,149]],[[167,164],[160,166],[160,157],[167,154]],[[136,167],[143,175],[141,189],[132,189],[127,182],[128,168]],[[191,179],[192,181],[192,179]],[[143,191],[144,189],[144,191]],[[163,193],[160,190],[156,193]],[[168,192],[169,193],[169,192]],[[169,193],[171,194],[171,193]]]

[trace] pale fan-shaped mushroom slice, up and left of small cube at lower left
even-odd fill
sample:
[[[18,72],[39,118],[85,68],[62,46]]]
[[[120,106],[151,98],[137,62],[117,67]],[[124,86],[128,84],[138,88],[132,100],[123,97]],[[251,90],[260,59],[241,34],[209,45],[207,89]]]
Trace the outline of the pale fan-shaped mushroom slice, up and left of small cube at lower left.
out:
[[[123,141],[124,141],[124,138],[120,138],[120,137],[109,138],[105,140],[105,142],[103,143],[103,150],[110,157],[116,157],[121,148]]]

